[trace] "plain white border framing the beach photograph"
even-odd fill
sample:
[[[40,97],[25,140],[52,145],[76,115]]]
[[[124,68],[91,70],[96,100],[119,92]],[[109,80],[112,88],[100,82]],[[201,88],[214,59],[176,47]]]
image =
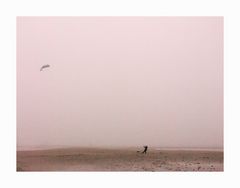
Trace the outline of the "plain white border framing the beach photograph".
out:
[[[235,2],[235,3],[234,3]],[[1,187],[239,187],[239,8],[227,0],[2,0],[0,2]],[[224,16],[224,172],[16,173],[16,16]]]

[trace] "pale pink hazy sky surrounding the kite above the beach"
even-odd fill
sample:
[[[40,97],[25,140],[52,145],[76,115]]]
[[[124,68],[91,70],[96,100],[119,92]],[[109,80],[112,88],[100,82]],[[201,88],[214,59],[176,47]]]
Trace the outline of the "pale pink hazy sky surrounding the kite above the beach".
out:
[[[222,17],[17,18],[18,146],[145,144],[223,147]]]

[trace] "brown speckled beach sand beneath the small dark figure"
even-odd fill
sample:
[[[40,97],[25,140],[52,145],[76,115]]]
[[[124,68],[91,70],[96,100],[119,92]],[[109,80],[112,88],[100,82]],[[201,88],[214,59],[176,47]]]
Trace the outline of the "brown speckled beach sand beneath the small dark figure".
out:
[[[17,151],[17,171],[223,171],[222,151],[68,148]]]

